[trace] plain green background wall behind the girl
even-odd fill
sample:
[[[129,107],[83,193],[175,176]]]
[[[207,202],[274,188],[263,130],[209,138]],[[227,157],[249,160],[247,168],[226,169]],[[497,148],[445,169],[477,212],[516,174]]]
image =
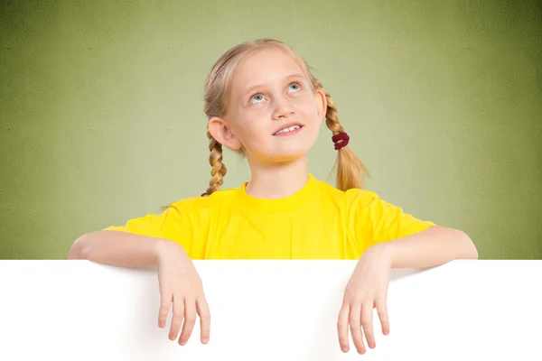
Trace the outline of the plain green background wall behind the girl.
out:
[[[64,259],[84,233],[200,195],[205,77],[264,37],[322,79],[370,190],[462,229],[482,259],[542,258],[539,2],[89,3],[3,2],[0,258]],[[311,153],[333,183],[327,128]],[[248,179],[224,162],[225,188]]]

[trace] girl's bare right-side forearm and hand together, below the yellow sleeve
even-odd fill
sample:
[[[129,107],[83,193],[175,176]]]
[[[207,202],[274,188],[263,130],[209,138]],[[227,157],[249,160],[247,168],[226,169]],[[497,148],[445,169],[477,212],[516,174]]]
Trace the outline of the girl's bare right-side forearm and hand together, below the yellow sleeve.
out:
[[[365,353],[363,334],[369,347],[376,347],[374,308],[382,332],[388,335],[388,282],[392,268],[426,268],[461,258],[478,258],[471,238],[459,230],[439,226],[370,246],[361,255],[344,292],[337,324],[343,352],[350,349],[349,326],[360,354]]]

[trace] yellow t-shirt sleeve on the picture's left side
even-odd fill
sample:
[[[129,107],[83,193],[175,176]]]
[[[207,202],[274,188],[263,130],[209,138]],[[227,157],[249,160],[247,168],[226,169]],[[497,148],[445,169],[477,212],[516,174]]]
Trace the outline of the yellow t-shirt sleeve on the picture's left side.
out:
[[[140,236],[169,239],[182,245],[190,254],[198,214],[187,204],[173,203],[161,214],[147,214],[133,218],[122,226],[110,226],[104,230],[127,232]]]

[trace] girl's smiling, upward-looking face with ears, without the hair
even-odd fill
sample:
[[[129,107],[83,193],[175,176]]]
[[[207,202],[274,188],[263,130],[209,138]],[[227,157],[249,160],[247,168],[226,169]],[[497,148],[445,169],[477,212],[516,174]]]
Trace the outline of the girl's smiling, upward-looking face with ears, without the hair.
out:
[[[300,65],[276,48],[242,60],[229,89],[228,114],[210,119],[210,134],[249,162],[289,162],[304,156],[318,137],[327,107]]]

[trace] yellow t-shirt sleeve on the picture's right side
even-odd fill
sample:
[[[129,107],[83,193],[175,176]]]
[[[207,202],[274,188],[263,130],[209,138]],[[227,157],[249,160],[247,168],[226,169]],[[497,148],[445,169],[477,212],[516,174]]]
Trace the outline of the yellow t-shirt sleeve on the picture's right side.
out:
[[[363,248],[367,249],[436,225],[415,218],[402,208],[380,199],[373,191],[353,190],[350,195],[350,226]]]

